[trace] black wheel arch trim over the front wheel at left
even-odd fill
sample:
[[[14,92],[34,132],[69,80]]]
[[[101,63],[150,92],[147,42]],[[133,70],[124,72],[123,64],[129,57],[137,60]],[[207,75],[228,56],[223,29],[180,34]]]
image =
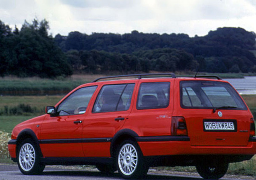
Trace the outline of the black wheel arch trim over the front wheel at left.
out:
[[[31,129],[24,129],[22,131],[20,131],[18,137],[17,137],[17,141],[16,141],[16,154],[18,154],[19,152],[19,147],[20,147],[20,144],[23,140],[25,139],[32,139],[36,145],[36,148],[39,152],[39,156],[42,157],[43,154],[42,154],[42,151],[41,151],[41,148],[39,146],[39,142],[38,142],[38,139],[36,137],[36,134],[34,131],[32,131]],[[17,156],[18,157],[18,156]]]

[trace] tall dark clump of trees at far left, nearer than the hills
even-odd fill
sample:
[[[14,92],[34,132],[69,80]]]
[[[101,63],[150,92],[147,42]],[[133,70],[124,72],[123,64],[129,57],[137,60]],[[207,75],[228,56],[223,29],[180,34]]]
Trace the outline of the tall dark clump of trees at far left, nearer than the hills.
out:
[[[56,77],[72,74],[65,54],[48,35],[48,22],[25,21],[12,32],[0,21],[0,75]]]

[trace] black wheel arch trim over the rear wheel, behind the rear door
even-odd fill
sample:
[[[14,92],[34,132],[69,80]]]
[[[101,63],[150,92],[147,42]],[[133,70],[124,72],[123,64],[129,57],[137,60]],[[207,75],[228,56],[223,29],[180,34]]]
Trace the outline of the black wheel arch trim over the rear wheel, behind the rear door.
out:
[[[115,153],[116,153],[116,146],[118,146],[122,141],[124,141],[125,139],[132,139],[135,142],[136,141],[136,137],[138,137],[139,135],[130,130],[130,129],[122,129],[120,131],[118,131],[115,136],[113,137],[113,139],[111,140],[111,144],[110,144],[110,155],[111,157],[115,157]]]

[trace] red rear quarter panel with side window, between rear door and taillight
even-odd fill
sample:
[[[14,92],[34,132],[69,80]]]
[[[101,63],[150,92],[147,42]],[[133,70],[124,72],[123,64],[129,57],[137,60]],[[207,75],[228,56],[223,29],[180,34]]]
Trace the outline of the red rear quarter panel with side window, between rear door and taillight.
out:
[[[169,136],[173,79],[158,79],[155,82],[141,79],[138,86],[136,108],[132,109],[125,125],[136,128],[134,131],[139,130],[140,136]]]

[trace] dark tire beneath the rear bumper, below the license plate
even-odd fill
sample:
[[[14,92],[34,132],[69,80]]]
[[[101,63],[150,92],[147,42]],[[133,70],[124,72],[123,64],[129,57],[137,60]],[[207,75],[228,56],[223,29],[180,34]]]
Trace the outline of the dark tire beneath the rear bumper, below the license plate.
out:
[[[220,179],[228,170],[228,163],[200,163],[196,165],[196,170],[204,179]]]

